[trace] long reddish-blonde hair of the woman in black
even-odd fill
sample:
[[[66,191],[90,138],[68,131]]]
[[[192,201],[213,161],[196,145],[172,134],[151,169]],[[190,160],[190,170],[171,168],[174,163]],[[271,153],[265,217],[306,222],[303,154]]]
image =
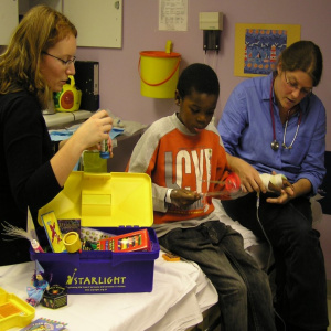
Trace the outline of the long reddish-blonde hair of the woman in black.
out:
[[[77,30],[65,15],[47,6],[33,7],[0,55],[0,94],[28,90],[45,107],[52,92],[40,72],[41,56],[70,34],[76,38]]]

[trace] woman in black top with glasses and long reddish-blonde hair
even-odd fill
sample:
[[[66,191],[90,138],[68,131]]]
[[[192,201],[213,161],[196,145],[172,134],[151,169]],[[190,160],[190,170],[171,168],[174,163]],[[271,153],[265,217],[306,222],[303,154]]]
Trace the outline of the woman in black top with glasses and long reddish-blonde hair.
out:
[[[76,28],[39,6],[22,19],[0,55],[0,265],[30,260],[26,239],[3,235],[2,224],[26,229],[38,210],[63,189],[88,148],[108,139],[111,118],[97,111],[66,141],[52,143],[42,115],[54,92],[75,74]]]

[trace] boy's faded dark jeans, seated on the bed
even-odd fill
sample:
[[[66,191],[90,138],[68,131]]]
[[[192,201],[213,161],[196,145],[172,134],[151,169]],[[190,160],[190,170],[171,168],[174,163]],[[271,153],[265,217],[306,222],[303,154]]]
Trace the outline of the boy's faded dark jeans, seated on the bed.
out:
[[[195,261],[212,281],[225,331],[276,330],[267,275],[244,250],[241,234],[220,221],[210,221],[172,229],[159,242],[173,254]]]

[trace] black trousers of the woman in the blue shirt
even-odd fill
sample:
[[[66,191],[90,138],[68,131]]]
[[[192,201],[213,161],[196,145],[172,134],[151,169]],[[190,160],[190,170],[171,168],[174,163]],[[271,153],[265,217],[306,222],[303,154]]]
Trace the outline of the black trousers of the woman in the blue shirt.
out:
[[[328,322],[327,281],[319,233],[312,229],[310,202],[297,197],[287,204],[270,204],[260,194],[258,218],[256,194],[223,201],[233,220],[273,246],[276,267],[276,311],[287,325],[302,330],[325,329]],[[287,329],[290,329],[288,327]]]

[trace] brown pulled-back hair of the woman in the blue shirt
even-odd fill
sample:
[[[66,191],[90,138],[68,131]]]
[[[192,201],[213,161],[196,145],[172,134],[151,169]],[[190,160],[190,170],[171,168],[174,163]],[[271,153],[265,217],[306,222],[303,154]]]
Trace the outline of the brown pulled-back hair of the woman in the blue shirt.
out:
[[[279,57],[282,71],[302,71],[307,73],[313,86],[320,83],[323,71],[323,57],[318,45],[311,41],[298,41],[285,49]]]

